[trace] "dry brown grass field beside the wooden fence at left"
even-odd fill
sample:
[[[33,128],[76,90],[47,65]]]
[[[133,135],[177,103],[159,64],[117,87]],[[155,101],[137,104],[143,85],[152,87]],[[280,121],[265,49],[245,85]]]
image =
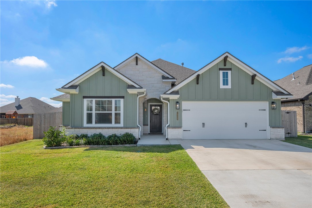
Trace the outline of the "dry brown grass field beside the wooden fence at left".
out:
[[[32,139],[32,126],[0,128],[0,146]]]

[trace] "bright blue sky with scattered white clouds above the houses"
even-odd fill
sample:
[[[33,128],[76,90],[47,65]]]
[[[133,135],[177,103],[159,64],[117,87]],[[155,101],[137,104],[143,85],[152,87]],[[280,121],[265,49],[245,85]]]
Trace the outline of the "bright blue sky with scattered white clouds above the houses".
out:
[[[228,51],[271,80],[312,63],[311,1],[1,1],[1,106],[138,52],[198,70]]]

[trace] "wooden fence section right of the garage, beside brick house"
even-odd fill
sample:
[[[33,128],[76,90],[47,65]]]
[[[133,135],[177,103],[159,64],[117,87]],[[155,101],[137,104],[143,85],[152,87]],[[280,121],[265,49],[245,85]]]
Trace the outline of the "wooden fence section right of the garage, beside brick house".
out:
[[[297,111],[282,111],[282,126],[285,137],[297,137]]]

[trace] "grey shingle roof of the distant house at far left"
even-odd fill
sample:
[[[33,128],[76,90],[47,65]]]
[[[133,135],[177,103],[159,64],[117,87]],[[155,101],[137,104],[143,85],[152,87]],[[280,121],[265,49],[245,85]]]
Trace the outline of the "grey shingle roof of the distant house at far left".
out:
[[[35,97],[27,97],[20,101],[19,106],[15,106],[15,102],[0,107],[0,113],[7,111],[17,111],[18,114],[38,114],[46,113],[54,110],[56,107],[43,102]]]

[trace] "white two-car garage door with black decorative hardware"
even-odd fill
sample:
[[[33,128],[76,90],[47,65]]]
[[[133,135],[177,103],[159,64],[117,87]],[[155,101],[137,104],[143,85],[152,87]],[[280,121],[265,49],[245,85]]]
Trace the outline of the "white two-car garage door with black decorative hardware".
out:
[[[268,102],[182,102],[183,139],[269,139]]]

